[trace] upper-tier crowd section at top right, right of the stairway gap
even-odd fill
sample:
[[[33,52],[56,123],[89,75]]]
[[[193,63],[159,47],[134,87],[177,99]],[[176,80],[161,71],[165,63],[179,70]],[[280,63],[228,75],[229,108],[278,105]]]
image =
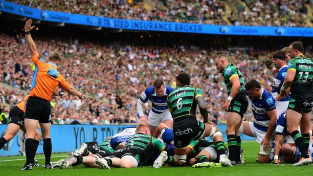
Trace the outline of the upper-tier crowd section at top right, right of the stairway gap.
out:
[[[236,1],[237,12],[228,18],[234,25],[308,27],[308,0],[243,0]]]

